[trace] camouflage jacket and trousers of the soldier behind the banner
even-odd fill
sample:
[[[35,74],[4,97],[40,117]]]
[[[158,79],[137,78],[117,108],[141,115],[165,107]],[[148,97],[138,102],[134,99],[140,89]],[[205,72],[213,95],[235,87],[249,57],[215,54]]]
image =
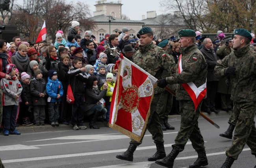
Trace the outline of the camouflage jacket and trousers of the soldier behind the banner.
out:
[[[132,62],[143,68],[157,79],[160,79],[163,70],[166,70],[169,74],[173,74],[176,71],[176,64],[174,60],[171,59],[171,57],[169,57],[169,55],[166,54],[162,48],[154,45],[152,42],[140,47],[139,50],[133,55]],[[158,92],[159,87],[157,87],[155,90],[156,92],[150,105],[150,117],[148,118],[147,129],[152,134],[152,139],[154,142],[158,143],[164,142],[163,131],[158,113],[154,112],[156,111],[158,101],[161,98],[162,91]],[[137,142],[131,139],[130,143],[139,145],[141,144],[142,140],[143,138],[141,138],[140,142]]]

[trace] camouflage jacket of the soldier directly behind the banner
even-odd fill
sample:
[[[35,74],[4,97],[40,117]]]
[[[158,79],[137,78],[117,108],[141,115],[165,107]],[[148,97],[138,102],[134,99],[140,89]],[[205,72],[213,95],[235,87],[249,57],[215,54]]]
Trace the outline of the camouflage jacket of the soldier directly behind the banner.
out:
[[[170,57],[162,48],[154,45],[152,42],[140,47],[133,55],[132,62],[157,79],[161,79],[163,70],[166,70],[169,76],[172,76],[176,72],[176,64],[173,57]],[[161,91],[163,89],[157,87],[155,94]]]

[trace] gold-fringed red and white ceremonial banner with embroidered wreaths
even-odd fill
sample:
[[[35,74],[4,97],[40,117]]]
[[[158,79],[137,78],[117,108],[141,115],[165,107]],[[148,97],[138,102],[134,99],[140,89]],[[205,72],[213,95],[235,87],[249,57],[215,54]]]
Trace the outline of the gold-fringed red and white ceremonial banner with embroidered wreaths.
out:
[[[157,79],[125,57],[117,64],[109,126],[140,141],[146,131]]]

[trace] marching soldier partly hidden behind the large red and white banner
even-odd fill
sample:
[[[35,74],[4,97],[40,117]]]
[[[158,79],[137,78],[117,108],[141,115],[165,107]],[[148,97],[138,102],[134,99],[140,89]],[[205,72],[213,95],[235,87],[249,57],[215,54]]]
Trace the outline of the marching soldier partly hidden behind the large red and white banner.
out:
[[[169,57],[162,48],[152,43],[153,33],[151,28],[141,28],[137,33],[137,37],[140,39],[140,46],[139,50],[133,55],[132,61],[135,64],[158,79],[160,79],[163,70],[175,73],[176,64],[174,63],[174,60]],[[147,129],[152,134],[152,139],[156,144],[157,151],[152,157],[148,158],[148,161],[156,161],[157,159],[161,159],[166,156],[163,146],[163,131],[158,118],[158,113],[155,113],[156,106],[160,98],[161,93],[154,94],[154,98],[150,105],[150,116],[148,118]],[[141,144],[142,139],[143,138],[141,138],[140,142],[132,139],[129,148],[124,153],[117,155],[116,157],[125,161],[133,161],[133,153],[137,146]]]

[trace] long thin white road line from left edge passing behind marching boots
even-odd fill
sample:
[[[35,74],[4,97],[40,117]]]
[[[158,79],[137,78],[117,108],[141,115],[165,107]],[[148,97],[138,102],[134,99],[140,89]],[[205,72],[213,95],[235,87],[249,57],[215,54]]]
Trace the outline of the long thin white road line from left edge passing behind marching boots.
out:
[[[165,144],[165,147],[171,147],[173,144]],[[187,142],[187,145],[191,145],[191,142]],[[138,147],[136,150],[148,150],[154,149],[156,146],[145,146],[145,147]],[[68,155],[55,155],[55,156],[46,156],[46,157],[32,157],[32,158],[24,158],[24,159],[11,159],[2,161],[3,163],[12,163],[12,162],[26,162],[26,161],[38,161],[38,160],[46,160],[46,159],[59,159],[59,158],[67,158],[67,157],[80,157],[80,156],[89,156],[89,155],[100,155],[106,153],[117,153],[117,152],[124,152],[127,149],[120,149],[120,150],[108,150],[108,151],[96,151],[96,152],[87,152],[87,153],[75,153],[75,154],[68,154]]]

